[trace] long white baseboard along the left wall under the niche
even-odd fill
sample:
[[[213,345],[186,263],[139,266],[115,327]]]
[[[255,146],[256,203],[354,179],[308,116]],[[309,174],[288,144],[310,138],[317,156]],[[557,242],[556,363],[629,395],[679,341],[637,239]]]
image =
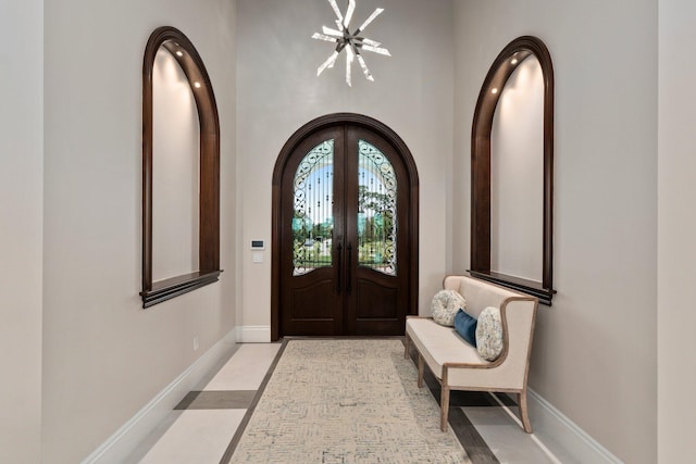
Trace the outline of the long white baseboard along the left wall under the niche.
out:
[[[88,455],[83,464],[123,463],[236,343],[232,329]]]

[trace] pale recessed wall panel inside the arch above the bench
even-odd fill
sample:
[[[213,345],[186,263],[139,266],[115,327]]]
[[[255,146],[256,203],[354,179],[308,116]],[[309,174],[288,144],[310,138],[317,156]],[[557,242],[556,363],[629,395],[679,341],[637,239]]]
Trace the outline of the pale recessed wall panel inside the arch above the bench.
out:
[[[540,281],[544,76],[534,57],[510,75],[490,128],[490,271]]]

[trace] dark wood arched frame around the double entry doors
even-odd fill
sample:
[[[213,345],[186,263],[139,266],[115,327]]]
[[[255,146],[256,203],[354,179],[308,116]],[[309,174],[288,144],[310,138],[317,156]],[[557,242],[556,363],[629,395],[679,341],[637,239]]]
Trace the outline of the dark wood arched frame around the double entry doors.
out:
[[[418,250],[419,250],[419,178],[415,161],[411,155],[411,151],[391,128],[372,117],[355,114],[355,113],[334,113],[320,116],[310,121],[300,127],[285,142],[273,170],[273,217],[272,217],[272,250],[271,250],[271,339],[281,338],[281,180],[283,172],[293,151],[300,145],[302,140],[312,134],[336,125],[351,124],[365,127],[375,131],[387,140],[400,156],[407,168],[409,177],[410,190],[409,202],[411,204],[411,214],[409,224],[405,224],[410,233],[409,253],[410,260],[410,294],[408,314],[418,314]]]

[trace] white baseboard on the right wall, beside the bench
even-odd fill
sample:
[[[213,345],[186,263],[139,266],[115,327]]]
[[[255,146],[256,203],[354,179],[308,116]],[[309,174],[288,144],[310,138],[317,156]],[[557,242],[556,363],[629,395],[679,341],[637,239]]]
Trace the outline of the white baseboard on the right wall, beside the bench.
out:
[[[527,389],[527,407],[534,435],[560,462],[622,462],[532,389]]]

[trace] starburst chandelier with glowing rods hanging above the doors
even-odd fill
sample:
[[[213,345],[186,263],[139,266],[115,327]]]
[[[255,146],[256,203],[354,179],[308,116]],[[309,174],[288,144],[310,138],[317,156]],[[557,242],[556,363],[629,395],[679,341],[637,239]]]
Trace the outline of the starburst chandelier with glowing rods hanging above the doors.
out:
[[[326,40],[328,42],[336,43],[336,49],[328,57],[328,59],[322,63],[321,66],[316,68],[316,76],[321,75],[324,70],[327,67],[334,67],[336,64],[336,60],[341,51],[346,50],[346,84],[352,87],[351,84],[351,65],[355,60],[358,60],[360,67],[362,68],[362,73],[365,75],[368,80],[374,80],[368,65],[365,64],[365,60],[362,58],[362,51],[371,51],[373,53],[384,54],[386,57],[391,57],[389,50],[386,48],[380,47],[382,43],[375,40],[371,40],[366,37],[363,37],[361,34],[364,32],[365,27],[370,25],[384,11],[383,8],[375,9],[370,17],[368,17],[353,33],[350,33],[349,25],[350,20],[352,20],[352,15],[356,11],[356,0],[348,0],[348,8],[346,9],[346,14],[341,14],[338,5],[336,4],[336,0],[327,0],[331,8],[336,13],[336,26],[338,29],[334,29],[331,27],[322,26],[322,33],[314,33],[312,36],[313,39],[318,40]]]

